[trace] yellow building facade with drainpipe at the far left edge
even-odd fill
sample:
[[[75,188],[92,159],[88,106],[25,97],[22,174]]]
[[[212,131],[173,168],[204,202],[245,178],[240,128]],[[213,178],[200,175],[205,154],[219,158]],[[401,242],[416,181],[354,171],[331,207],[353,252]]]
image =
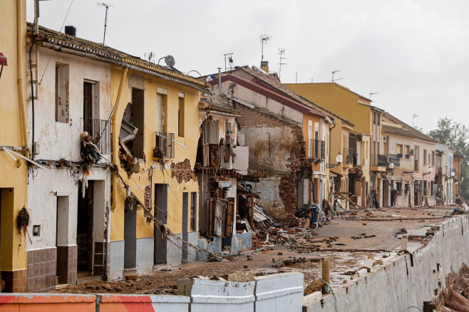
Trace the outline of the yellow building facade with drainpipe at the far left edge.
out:
[[[25,120],[26,1],[1,3],[0,52],[4,66],[0,78],[0,272],[6,292],[26,291],[26,232],[16,226],[21,209],[27,209],[29,157]],[[15,159],[16,160],[15,160]],[[21,232],[20,232],[21,231]]]

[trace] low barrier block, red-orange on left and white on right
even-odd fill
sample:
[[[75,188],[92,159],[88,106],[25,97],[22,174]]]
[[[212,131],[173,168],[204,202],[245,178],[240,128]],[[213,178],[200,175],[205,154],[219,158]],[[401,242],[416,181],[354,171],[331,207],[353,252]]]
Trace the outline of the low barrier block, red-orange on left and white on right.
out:
[[[172,295],[115,295],[98,296],[100,312],[119,311],[189,311],[190,298]]]

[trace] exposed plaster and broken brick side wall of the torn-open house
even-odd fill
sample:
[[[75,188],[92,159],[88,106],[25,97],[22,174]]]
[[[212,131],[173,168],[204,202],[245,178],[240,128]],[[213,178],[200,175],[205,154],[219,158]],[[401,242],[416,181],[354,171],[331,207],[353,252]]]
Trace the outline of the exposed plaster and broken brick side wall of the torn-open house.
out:
[[[242,105],[238,109],[243,116],[238,120],[240,133],[249,146],[249,171],[267,174],[253,189],[261,197],[257,203],[274,217],[287,217],[297,207],[297,172],[307,177],[310,168],[303,132],[282,116]]]

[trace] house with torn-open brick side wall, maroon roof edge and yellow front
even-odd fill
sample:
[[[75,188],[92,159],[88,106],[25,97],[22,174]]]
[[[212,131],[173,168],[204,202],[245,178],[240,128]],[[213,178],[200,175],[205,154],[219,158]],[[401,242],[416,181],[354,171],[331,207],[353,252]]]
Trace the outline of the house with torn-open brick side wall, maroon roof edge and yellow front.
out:
[[[327,114],[313,108],[272,76],[242,67],[210,81],[212,92],[225,94],[240,110],[240,145],[249,146],[249,175],[263,172],[259,182],[244,182],[259,194],[257,204],[288,221],[297,207],[329,198]]]

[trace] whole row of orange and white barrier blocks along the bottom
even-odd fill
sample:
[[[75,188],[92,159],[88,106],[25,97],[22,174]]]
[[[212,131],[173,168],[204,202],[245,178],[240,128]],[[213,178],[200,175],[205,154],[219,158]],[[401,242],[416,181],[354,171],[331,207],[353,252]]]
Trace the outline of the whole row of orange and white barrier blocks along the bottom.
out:
[[[0,293],[1,311],[301,311],[303,274],[289,272],[256,277],[254,281],[181,279],[180,296],[118,294]]]

